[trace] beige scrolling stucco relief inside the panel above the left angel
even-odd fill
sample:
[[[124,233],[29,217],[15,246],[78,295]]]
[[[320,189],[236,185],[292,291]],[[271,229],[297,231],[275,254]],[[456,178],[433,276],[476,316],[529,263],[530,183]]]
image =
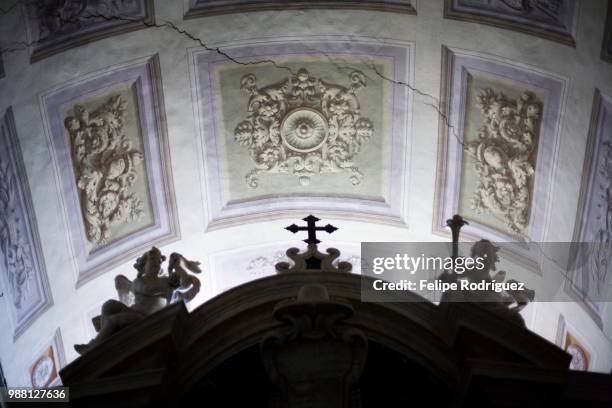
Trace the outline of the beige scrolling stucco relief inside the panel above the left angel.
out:
[[[143,154],[125,134],[125,109],[126,102],[117,95],[94,112],[76,105],[74,116],[64,121],[87,239],[94,246],[109,242],[112,225],[143,216],[142,201],[131,189]]]

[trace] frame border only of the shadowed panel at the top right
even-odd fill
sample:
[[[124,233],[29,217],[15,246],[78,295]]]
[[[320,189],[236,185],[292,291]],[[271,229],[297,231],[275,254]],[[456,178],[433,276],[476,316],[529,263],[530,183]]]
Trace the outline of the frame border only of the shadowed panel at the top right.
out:
[[[499,16],[495,16],[493,13],[488,13],[483,11],[481,13],[475,11],[461,11],[454,8],[455,2],[457,0],[445,0],[444,1],[444,18],[459,20],[459,21],[468,21],[471,23],[480,23],[487,24],[494,27],[501,27],[507,30],[518,31],[525,34],[535,35],[537,37],[545,38],[547,40],[556,41],[561,44],[569,45],[571,47],[576,47],[576,26],[578,22],[578,3],[575,4],[574,7],[574,16],[572,21],[572,26],[568,31],[551,31],[544,27],[536,27],[533,24],[530,24],[528,20],[525,19],[525,22],[521,21],[512,21],[511,18],[503,18]],[[519,18],[520,20],[520,18]]]

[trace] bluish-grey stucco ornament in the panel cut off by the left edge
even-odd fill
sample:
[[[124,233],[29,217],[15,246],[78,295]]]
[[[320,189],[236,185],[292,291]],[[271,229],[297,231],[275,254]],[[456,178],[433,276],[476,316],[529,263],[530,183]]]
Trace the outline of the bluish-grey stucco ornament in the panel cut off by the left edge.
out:
[[[9,289],[15,308],[21,309],[30,290],[34,274],[32,248],[21,230],[17,206],[16,180],[9,164],[0,163],[0,250],[8,277]]]

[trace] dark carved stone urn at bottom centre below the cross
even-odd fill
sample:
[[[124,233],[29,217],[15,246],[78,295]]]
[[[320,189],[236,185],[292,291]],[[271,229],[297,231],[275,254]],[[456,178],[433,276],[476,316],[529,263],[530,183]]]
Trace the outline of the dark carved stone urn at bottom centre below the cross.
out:
[[[357,381],[367,355],[367,339],[343,325],[353,315],[345,302],[329,298],[323,285],[300,288],[297,299],[274,308],[283,326],[264,338],[261,355],[277,392],[273,407],[358,407]]]

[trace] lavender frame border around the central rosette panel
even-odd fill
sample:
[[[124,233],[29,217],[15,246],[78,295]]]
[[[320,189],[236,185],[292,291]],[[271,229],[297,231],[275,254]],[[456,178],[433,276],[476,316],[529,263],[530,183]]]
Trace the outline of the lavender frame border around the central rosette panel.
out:
[[[239,42],[219,45],[238,60],[256,58],[265,55],[266,58],[275,55],[357,55],[388,57],[392,60],[392,73],[395,80],[412,83],[414,76],[414,43],[397,40],[352,39],[346,37],[310,37],[310,41],[297,38],[281,38],[262,42]],[[347,48],[348,47],[348,48]],[[346,52],[349,49],[353,54]],[[254,50],[258,50],[254,54]],[[282,52],[285,52],[283,54]],[[368,54],[371,53],[371,54]],[[373,54],[372,54],[373,53]],[[254,56],[255,55],[255,56]],[[212,96],[212,80],[209,66],[215,63],[227,63],[225,56],[200,48],[191,51],[192,80],[195,84],[193,100],[196,105],[197,125],[200,154],[202,156],[203,177],[202,189],[206,191],[207,224],[205,229],[213,230],[243,222],[256,221],[262,218],[282,218],[302,214],[305,209],[316,211],[320,215],[332,218],[363,220],[405,227],[404,200],[406,180],[408,177],[409,158],[406,146],[410,144],[410,129],[412,121],[412,90],[407,87],[392,84],[392,113],[390,129],[389,175],[384,187],[384,201],[340,198],[328,196],[291,196],[284,197],[282,202],[274,198],[259,198],[239,203],[224,204],[224,187],[222,182],[223,161],[219,153],[217,126],[215,118],[217,105]],[[212,129],[212,131],[210,130]]]

